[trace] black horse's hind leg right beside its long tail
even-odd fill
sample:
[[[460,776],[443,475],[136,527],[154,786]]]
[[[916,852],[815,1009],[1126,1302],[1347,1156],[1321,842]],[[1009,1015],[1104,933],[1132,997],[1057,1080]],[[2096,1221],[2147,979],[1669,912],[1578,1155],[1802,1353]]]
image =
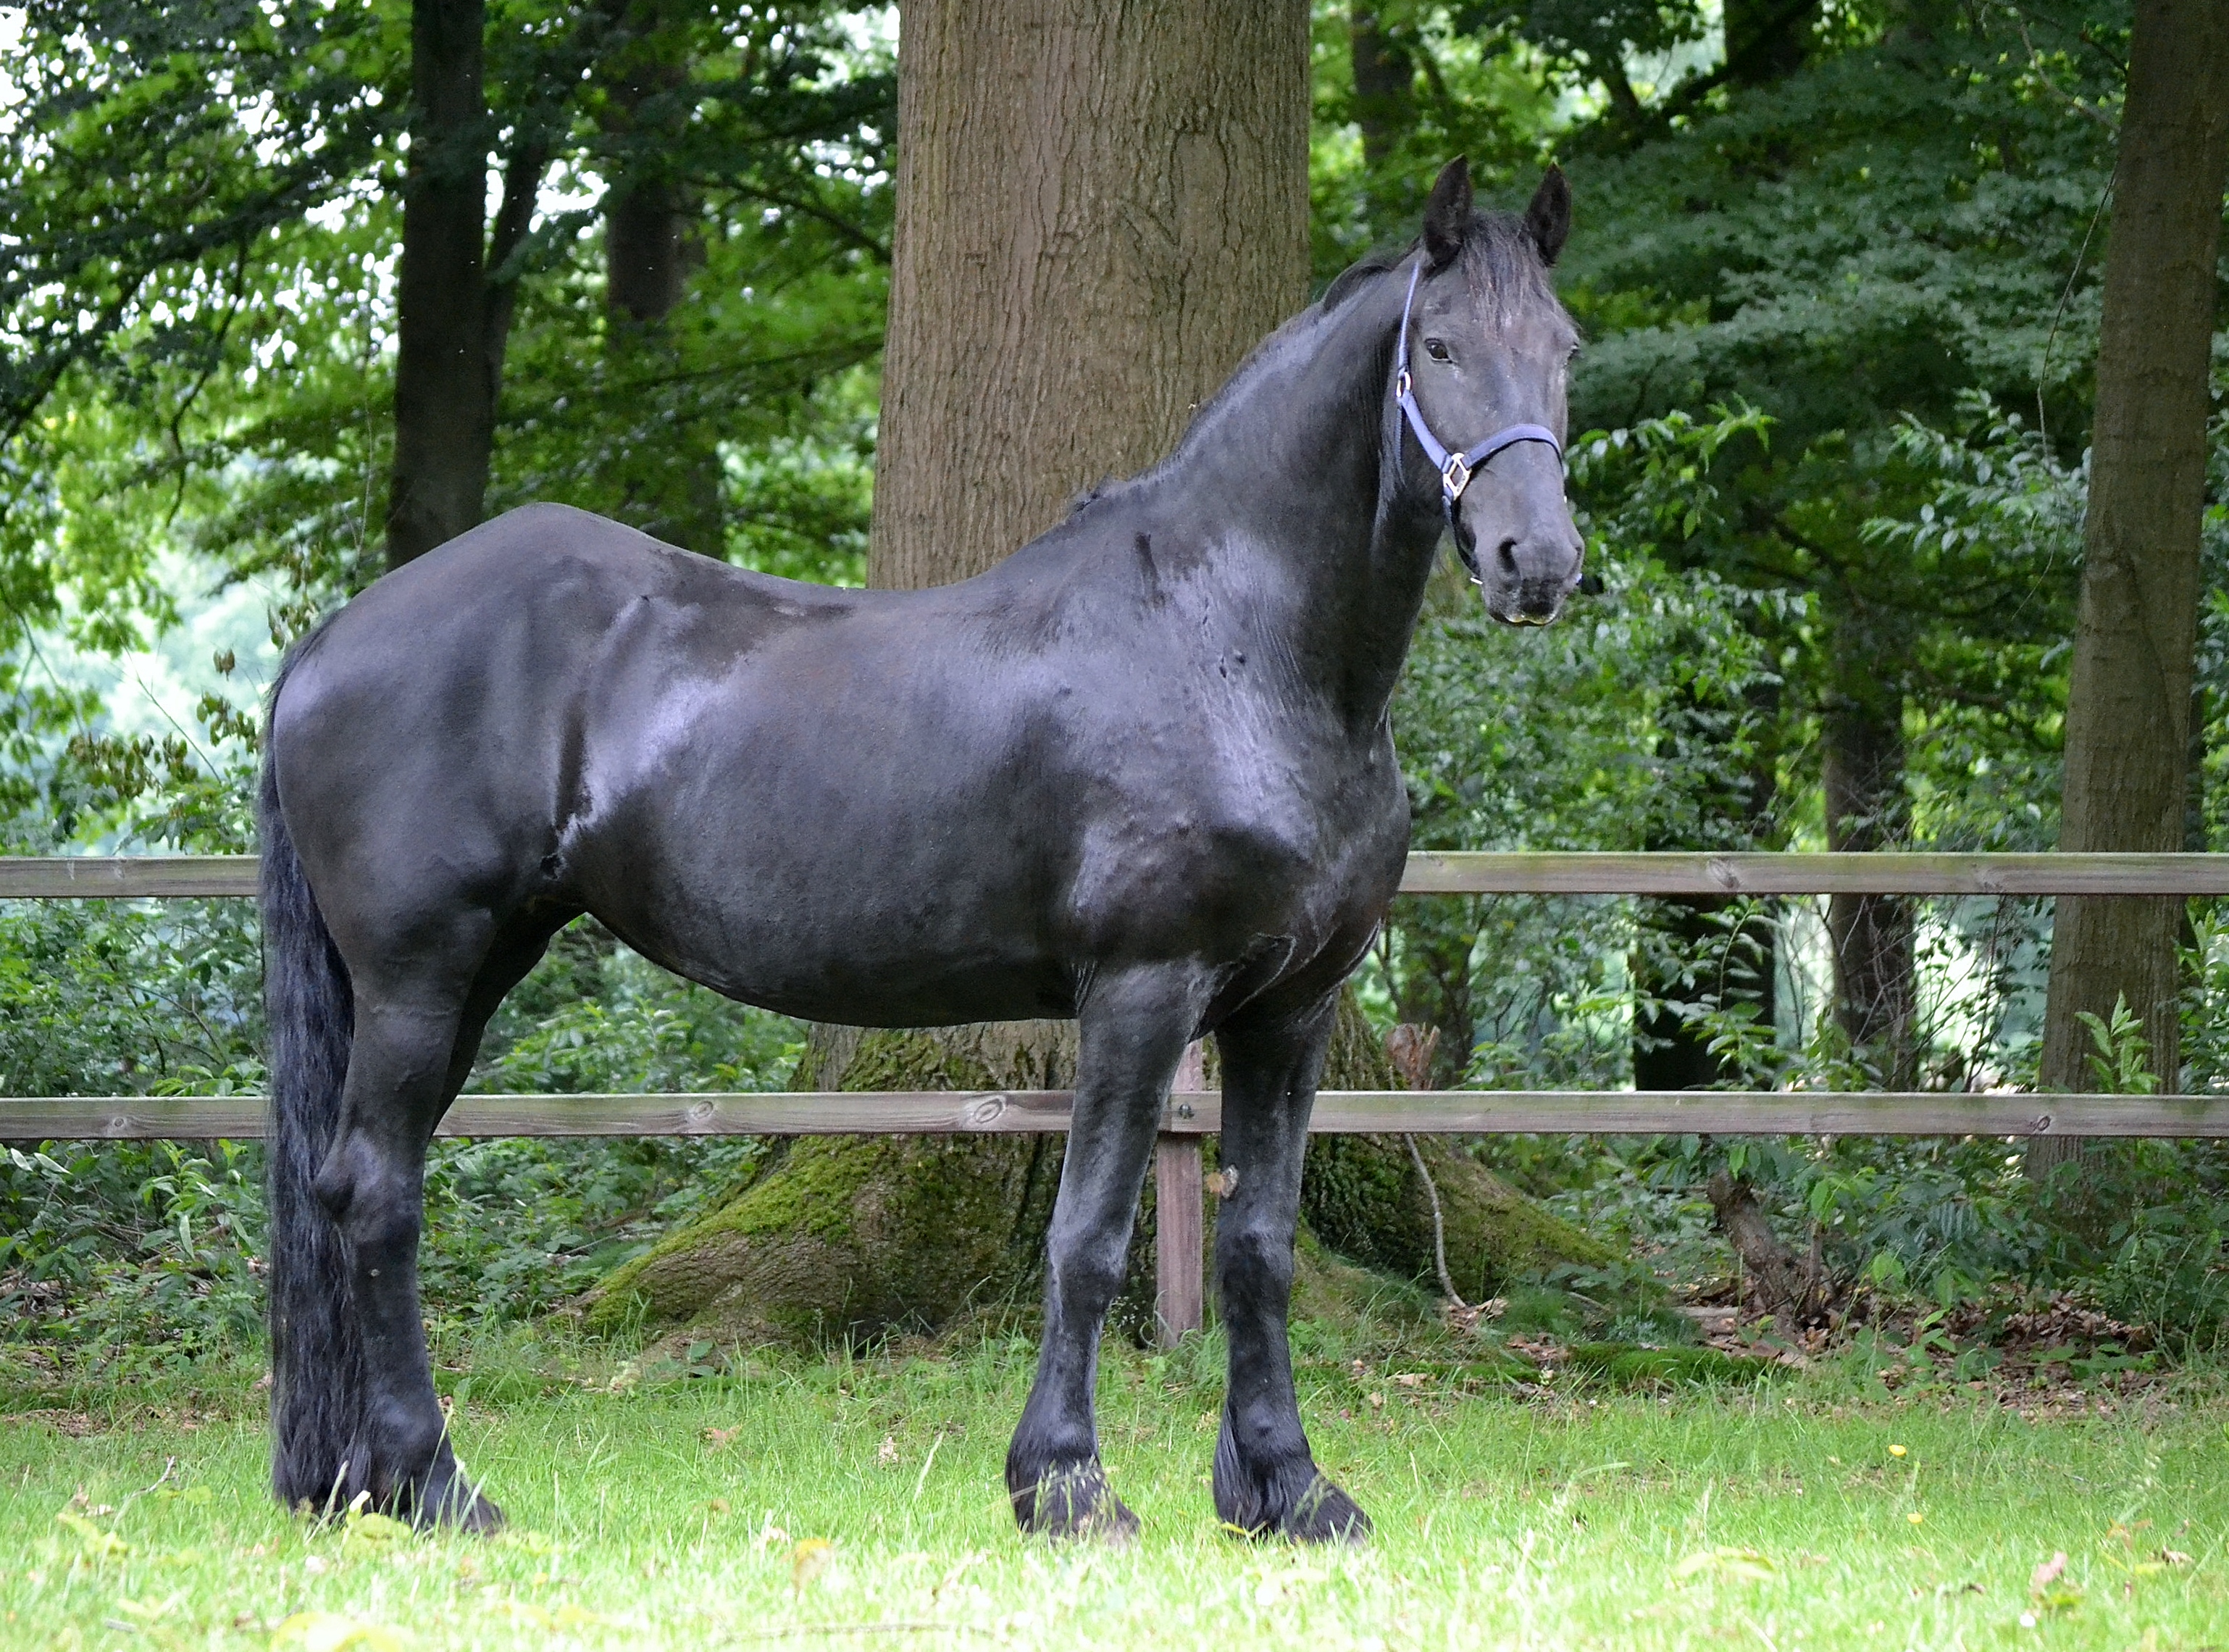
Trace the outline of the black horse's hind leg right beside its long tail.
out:
[[[348,1240],[363,1347],[366,1405],[343,1500],[370,1491],[374,1507],[419,1523],[493,1532],[502,1509],[464,1480],[426,1355],[417,1289],[426,1148],[488,1014],[533,968],[551,925],[515,925],[493,945],[484,919],[464,927],[475,934],[459,934],[421,974],[359,976],[341,1124],[314,1186]],[[459,959],[479,959],[477,972]]]

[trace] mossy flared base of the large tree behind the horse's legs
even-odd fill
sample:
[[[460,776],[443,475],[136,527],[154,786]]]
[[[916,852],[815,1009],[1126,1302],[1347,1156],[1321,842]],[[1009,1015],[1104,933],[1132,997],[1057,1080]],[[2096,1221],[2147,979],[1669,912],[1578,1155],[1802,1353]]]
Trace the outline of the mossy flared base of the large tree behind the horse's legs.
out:
[[[1059,1090],[1074,1083],[1070,1021],[938,1030],[818,1028],[798,1090]],[[1210,1077],[1215,1075],[1210,1050]],[[1346,997],[1326,1088],[1395,1086],[1369,1021]],[[1471,1300],[1558,1262],[1600,1264],[1607,1246],[1542,1211],[1438,1137],[1420,1137],[1447,1224],[1447,1262]],[[640,1322],[724,1347],[858,1342],[936,1331],[976,1306],[1034,1295],[1063,1137],[791,1137],[758,1179],[713,1215],[617,1269],[584,1302],[588,1324]],[[1215,1144],[1208,1144],[1213,1159]],[[1130,1244],[1112,1322],[1152,1327],[1155,1188]],[[1213,1206],[1213,1202],[1210,1202]],[[1433,1280],[1431,1199],[1400,1137],[1308,1144],[1302,1215],[1315,1240],[1295,1315],[1344,1315],[1346,1298]],[[1213,1255],[1213,1208],[1208,1246]],[[1320,1244],[1317,1244],[1320,1242]],[[1326,1248],[1328,1246],[1328,1248]],[[1344,1253],[1342,1260],[1335,1253]],[[1362,1264],[1360,1269],[1355,1264]]]

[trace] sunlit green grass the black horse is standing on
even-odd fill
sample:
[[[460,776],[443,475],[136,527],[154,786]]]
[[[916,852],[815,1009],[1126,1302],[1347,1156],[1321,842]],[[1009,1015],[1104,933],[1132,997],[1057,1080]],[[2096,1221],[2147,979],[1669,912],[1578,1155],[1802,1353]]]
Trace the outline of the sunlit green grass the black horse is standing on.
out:
[[[2024,1418],[1832,1371],[1551,1396],[1322,1360],[1317,1454],[1378,1536],[1306,1552],[1217,1527],[1204,1360],[1114,1351],[1106,1456],[1146,1534],[1110,1552],[1012,1529],[1021,1342],[684,1382],[479,1364],[455,1427],[513,1518],[493,1543],[283,1516],[245,1371],[0,1384],[0,1645],[2229,1648],[2211,1378]]]

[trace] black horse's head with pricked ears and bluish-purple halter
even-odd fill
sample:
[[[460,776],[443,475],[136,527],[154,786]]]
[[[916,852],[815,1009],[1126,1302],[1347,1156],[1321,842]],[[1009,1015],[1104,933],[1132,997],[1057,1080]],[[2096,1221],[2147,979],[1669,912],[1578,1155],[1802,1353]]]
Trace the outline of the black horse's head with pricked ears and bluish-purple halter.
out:
[[[1578,584],[1583,544],[1563,497],[1578,328],[1547,276],[1569,227],[1560,169],[1549,167],[1518,218],[1473,212],[1471,167],[1451,161],[1431,185],[1411,272],[1409,377],[1395,390],[1406,390],[1409,426],[1442,470],[1456,546],[1487,613],[1509,624],[1551,622]]]

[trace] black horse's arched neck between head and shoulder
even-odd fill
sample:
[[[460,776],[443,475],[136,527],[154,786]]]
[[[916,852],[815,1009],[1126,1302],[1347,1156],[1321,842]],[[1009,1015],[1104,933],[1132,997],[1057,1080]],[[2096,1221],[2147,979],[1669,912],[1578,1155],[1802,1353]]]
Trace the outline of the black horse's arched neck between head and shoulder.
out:
[[[1400,283],[1378,276],[1306,332],[1273,339],[1170,466],[1246,546],[1230,564],[1246,582],[1235,606],[1360,725],[1393,698],[1440,537],[1438,513],[1380,475],[1400,453],[1386,408],[1398,319]]]

